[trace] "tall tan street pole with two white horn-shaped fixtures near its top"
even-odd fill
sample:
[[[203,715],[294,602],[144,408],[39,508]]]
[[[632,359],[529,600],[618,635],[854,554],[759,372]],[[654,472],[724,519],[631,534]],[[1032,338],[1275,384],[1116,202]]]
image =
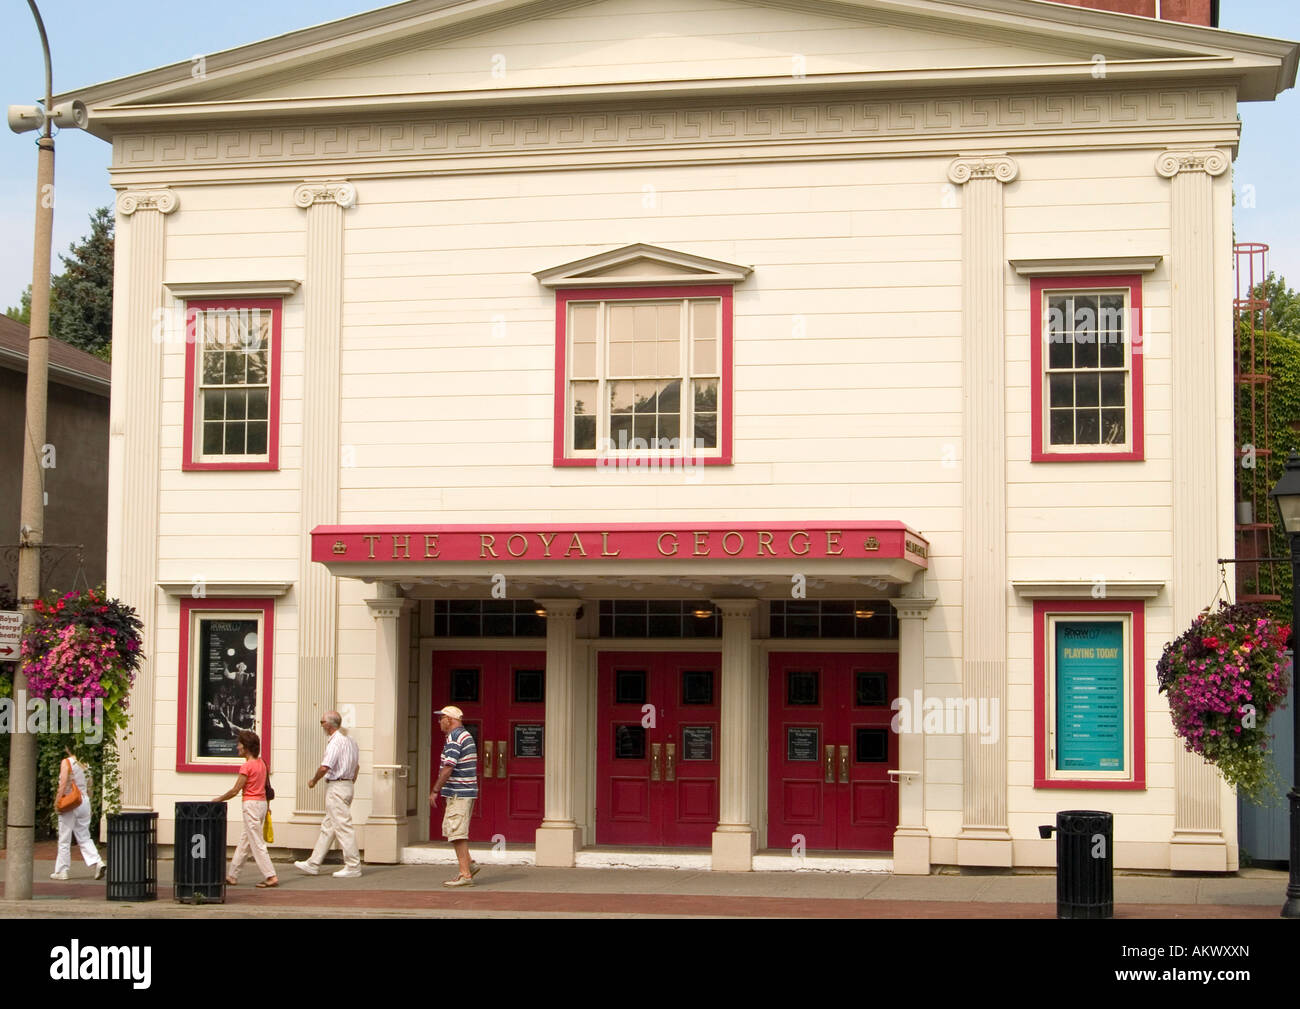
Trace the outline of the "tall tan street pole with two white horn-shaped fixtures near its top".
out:
[[[43,105],[10,105],[9,129],[40,130],[36,139],[36,235],[31,257],[31,328],[27,332],[27,416],[22,450],[22,519],[18,549],[18,607],[23,624],[32,622],[32,603],[40,596],[40,546],[46,534],[46,502],[40,472],[40,446],[46,443],[46,402],[49,387],[49,256],[55,224],[55,131],[84,129],[81,101],[55,104],[55,74],[49,38],[35,0],[27,0],[36,20],[46,57]],[[13,675],[13,697],[23,710],[27,693],[26,664]],[[36,820],[36,737],[16,732],[9,740],[9,818],[5,853],[5,900],[31,900],[32,846]]]

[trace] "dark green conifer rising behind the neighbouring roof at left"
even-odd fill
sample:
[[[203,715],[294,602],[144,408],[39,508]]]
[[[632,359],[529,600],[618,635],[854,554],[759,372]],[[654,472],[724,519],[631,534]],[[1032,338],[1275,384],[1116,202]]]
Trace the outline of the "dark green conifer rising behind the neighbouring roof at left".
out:
[[[49,293],[49,333],[104,360],[113,341],[113,211],[90,216],[90,234],[60,256]]]

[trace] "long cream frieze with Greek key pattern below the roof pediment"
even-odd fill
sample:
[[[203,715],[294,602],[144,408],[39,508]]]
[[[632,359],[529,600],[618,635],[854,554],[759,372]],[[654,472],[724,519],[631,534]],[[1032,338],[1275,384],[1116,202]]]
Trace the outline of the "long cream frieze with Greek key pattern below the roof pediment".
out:
[[[1105,140],[1117,130],[1223,127],[1235,131],[1230,87],[1097,88],[962,98],[722,100],[719,104],[638,104],[581,111],[482,112],[307,126],[222,126],[159,133],[124,130],[113,140],[113,169],[186,170],[214,166],[381,164],[428,157],[498,157],[586,151],[662,152],[719,147],[788,148],[797,143],[953,140],[1009,134],[1070,135]],[[1006,140],[1000,139],[998,146]],[[952,148],[949,148],[952,150]],[[963,159],[958,159],[963,160]],[[987,159],[985,159],[987,160]],[[328,169],[325,169],[328,172]],[[324,174],[324,172],[322,172]],[[307,182],[295,202],[316,202]],[[321,194],[324,195],[324,194]]]

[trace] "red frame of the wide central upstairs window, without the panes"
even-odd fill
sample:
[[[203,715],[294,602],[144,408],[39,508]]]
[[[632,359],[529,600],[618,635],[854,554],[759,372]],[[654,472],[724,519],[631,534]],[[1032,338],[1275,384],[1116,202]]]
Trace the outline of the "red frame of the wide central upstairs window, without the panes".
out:
[[[568,455],[564,439],[566,410],[568,404],[568,303],[569,302],[623,302],[646,298],[719,298],[722,299],[722,398],[718,411],[718,455],[655,455],[656,464],[671,467],[690,459],[693,464],[731,465],[732,464],[732,296],[731,285],[675,287],[581,287],[555,293],[555,465],[598,465],[601,458],[576,459]],[[608,456],[606,456],[608,458]],[[620,456],[640,458],[640,456]]]

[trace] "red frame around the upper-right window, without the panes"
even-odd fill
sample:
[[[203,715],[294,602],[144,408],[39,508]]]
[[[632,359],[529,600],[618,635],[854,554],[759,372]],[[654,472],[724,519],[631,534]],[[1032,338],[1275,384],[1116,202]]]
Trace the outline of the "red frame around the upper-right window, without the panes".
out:
[[[1046,368],[1043,359],[1044,333],[1043,296],[1048,291],[1087,291],[1126,287],[1128,290],[1128,317],[1132,320],[1128,337],[1130,391],[1127,403],[1132,447],[1127,451],[1084,451],[1066,452],[1053,449],[1045,428],[1044,393]],[[1144,382],[1143,382],[1143,312],[1141,276],[1136,273],[1106,277],[1034,277],[1030,281],[1030,423],[1034,425],[1030,437],[1030,459],[1035,463],[1134,463],[1145,458],[1144,445]]]

